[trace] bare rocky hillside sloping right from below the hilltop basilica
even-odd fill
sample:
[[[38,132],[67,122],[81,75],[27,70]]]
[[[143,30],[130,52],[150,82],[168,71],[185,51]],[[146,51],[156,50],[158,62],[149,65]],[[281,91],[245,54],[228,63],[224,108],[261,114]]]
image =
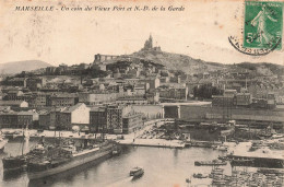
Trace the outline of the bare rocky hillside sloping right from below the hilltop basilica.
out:
[[[223,65],[217,62],[203,61],[200,59],[194,59],[192,57],[179,54],[170,54],[161,50],[140,50],[130,55],[131,57],[138,57],[145,60],[151,60],[155,63],[163,65],[168,69],[181,70],[186,73],[202,73],[205,71],[215,70],[227,70],[234,71],[238,68],[240,71],[253,71],[261,75],[283,75],[284,67],[281,65],[261,62],[241,62],[235,65]]]

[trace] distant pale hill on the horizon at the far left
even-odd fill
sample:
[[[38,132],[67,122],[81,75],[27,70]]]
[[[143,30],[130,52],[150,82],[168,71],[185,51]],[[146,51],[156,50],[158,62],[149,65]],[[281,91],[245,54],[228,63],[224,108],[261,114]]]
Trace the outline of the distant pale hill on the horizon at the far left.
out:
[[[22,71],[33,71],[51,65],[40,60],[25,60],[0,63],[0,74],[15,74]]]

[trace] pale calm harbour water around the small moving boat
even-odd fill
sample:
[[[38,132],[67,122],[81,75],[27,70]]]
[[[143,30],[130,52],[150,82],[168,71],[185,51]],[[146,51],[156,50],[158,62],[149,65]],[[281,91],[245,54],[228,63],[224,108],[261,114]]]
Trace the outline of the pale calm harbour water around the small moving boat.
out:
[[[38,140],[24,142],[26,151],[33,148]],[[22,141],[12,140],[8,143],[5,155],[21,154]],[[187,186],[186,178],[190,178],[193,173],[210,173],[211,166],[194,166],[194,161],[213,160],[222,154],[212,149],[189,148],[189,149],[165,149],[165,148],[127,148],[119,156],[107,159],[103,162],[94,162],[79,168],[44,178],[28,182],[25,173],[0,175],[0,186],[22,187],[22,186],[52,186],[52,187],[78,187],[78,186],[99,186],[99,187],[144,187],[144,186]],[[141,178],[132,180],[129,171],[134,166],[143,166],[145,173]],[[2,163],[0,164],[2,171]],[[224,166],[225,174],[230,174],[229,164]],[[191,185],[210,183],[191,178]]]

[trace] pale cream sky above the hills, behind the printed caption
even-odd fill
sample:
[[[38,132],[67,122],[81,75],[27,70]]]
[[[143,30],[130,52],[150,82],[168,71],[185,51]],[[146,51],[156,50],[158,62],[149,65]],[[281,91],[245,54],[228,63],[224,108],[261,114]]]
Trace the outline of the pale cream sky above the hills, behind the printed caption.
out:
[[[54,5],[58,10],[15,11],[16,5]],[[132,11],[61,11],[62,5],[132,7]],[[166,10],[133,11],[135,5]],[[170,5],[185,10],[169,11]],[[162,50],[205,61],[284,65],[283,49],[251,57],[228,43],[229,36],[241,37],[244,9],[244,0],[5,0],[0,2],[0,63],[32,59],[54,66],[88,63],[95,54],[138,51],[152,34]]]

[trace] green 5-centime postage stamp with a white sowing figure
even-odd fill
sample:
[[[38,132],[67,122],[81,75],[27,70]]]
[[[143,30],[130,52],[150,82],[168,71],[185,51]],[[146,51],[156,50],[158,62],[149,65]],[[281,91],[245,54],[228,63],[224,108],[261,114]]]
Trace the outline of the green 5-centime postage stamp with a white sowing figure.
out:
[[[244,47],[282,48],[283,2],[246,1]]]

